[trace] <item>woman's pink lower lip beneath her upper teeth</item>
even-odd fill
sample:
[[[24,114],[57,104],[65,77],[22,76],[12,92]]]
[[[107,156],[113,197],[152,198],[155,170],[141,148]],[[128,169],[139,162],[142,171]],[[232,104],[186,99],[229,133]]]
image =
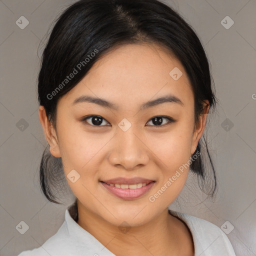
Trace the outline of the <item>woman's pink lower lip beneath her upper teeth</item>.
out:
[[[122,199],[135,199],[143,194],[145,194],[149,189],[154,185],[154,181],[148,183],[145,186],[142,186],[140,188],[130,189],[130,188],[119,188],[115,186],[110,186],[104,182],[100,182],[109,192],[116,195],[119,198]]]

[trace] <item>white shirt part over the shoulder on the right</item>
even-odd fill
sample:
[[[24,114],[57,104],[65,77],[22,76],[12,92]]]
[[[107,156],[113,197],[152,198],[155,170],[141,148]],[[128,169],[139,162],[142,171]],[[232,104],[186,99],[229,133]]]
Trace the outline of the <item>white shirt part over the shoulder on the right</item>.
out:
[[[189,228],[193,237],[195,256],[235,256],[228,237],[217,225],[185,213],[173,210],[169,212],[182,219]]]

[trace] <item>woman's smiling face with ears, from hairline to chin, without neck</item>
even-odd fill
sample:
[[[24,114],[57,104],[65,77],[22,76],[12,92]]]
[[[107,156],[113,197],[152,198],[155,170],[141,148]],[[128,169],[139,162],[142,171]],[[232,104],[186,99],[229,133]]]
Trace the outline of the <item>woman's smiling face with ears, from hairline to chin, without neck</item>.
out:
[[[183,66],[153,44],[123,45],[95,62],[58,100],[51,138],[43,107],[39,116],[50,151],[62,158],[78,201],[116,226],[124,220],[130,226],[146,223],[173,202],[186,181],[186,163],[206,118],[202,115],[195,126],[193,92]],[[101,182],[117,177],[153,182],[123,192]]]

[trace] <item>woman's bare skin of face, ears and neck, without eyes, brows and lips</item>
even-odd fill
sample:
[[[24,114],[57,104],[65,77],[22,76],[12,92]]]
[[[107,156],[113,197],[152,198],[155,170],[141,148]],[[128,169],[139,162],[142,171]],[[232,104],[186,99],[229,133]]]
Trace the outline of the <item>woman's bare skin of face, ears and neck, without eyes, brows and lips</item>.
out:
[[[178,67],[182,75],[174,80],[169,72]],[[157,97],[172,94],[183,105],[165,102],[139,110]],[[91,102],[72,105],[81,95],[97,96],[116,104],[118,110]],[[77,197],[77,223],[116,255],[192,256],[193,240],[188,227],[167,211],[182,190],[188,168],[154,202],[148,197],[194,153],[206,122],[208,101],[198,123],[194,123],[193,92],[181,63],[155,44],[126,44],[95,62],[90,71],[57,103],[56,130],[43,106],[39,120],[50,152],[61,157],[65,175],[75,169],[80,178],[67,182]],[[101,126],[87,115],[103,117]],[[152,117],[163,118],[162,126]],[[131,127],[123,131],[118,123],[126,118]],[[107,126],[106,124],[110,125]],[[55,150],[53,150],[53,148]],[[121,199],[108,192],[99,180],[118,176],[155,180],[154,186],[136,199]],[[130,229],[122,232],[118,227]]]

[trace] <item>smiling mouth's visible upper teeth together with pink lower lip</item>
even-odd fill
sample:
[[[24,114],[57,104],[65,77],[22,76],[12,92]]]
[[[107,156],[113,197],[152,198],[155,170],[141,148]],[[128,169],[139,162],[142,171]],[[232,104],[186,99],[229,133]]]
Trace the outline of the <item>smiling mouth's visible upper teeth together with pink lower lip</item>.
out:
[[[119,198],[135,199],[146,194],[154,186],[156,181],[151,180],[143,183],[134,183],[134,181],[129,182],[133,184],[120,183],[120,181],[118,183],[107,183],[100,181],[100,183],[104,188],[107,189],[108,192]]]

